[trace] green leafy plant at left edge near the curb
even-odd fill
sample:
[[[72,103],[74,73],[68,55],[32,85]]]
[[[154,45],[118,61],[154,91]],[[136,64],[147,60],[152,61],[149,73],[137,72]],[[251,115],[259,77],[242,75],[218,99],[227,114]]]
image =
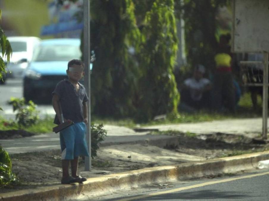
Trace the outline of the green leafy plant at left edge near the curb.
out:
[[[10,156],[0,146],[0,187],[18,183],[17,177],[11,172],[11,166]]]

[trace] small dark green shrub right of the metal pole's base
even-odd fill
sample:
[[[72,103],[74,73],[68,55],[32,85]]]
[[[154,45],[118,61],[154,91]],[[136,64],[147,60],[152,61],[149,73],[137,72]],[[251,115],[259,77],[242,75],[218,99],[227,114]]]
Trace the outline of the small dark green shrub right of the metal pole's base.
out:
[[[94,125],[91,124],[91,152],[92,158],[97,156],[97,149],[99,149],[99,144],[105,139],[106,130],[103,129],[103,124]]]

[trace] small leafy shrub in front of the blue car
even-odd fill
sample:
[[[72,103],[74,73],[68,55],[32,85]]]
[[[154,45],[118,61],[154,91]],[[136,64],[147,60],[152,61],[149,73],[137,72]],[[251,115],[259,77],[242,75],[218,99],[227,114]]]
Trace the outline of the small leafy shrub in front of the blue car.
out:
[[[17,111],[16,120],[18,121],[19,127],[29,127],[37,122],[39,119],[36,110],[37,105],[33,101],[29,101],[27,104],[24,98],[14,98],[11,97],[8,104],[13,106],[13,111]]]

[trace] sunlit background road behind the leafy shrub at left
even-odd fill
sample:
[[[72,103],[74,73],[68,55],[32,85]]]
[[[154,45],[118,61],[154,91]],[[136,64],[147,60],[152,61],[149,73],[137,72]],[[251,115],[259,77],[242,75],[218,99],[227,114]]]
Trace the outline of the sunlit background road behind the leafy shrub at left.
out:
[[[10,97],[23,97],[22,79],[7,79],[5,85],[0,85],[0,107],[4,110],[0,111],[0,116],[6,119],[15,119],[15,113],[13,112],[12,106],[7,104]],[[41,118],[46,115],[54,116],[55,114],[52,105],[37,105],[37,110],[40,111]]]

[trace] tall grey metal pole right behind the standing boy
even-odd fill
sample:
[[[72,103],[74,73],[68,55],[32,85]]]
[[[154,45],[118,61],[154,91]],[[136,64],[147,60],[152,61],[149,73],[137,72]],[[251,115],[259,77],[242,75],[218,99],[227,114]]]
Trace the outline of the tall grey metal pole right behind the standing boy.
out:
[[[84,18],[84,29],[83,34],[84,38],[81,43],[84,45],[83,55],[84,55],[84,64],[85,64],[85,77],[84,77],[84,85],[86,88],[86,93],[89,96],[88,102],[88,125],[86,128],[86,141],[89,150],[89,157],[85,157],[85,171],[91,170],[91,73],[90,73],[90,0],[83,0],[83,18]]]

